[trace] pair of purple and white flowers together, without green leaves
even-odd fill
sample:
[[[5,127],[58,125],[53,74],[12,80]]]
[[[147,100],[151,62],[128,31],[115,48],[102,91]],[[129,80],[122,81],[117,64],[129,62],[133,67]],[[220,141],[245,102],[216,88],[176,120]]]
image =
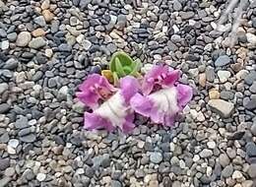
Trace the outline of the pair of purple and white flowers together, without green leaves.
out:
[[[85,128],[113,131],[118,127],[130,132],[135,127],[135,112],[171,126],[192,98],[192,89],[178,83],[179,76],[178,70],[160,65],[154,66],[142,80],[128,75],[120,78],[118,87],[113,87],[105,77],[90,75],[77,93],[93,110],[85,112]]]

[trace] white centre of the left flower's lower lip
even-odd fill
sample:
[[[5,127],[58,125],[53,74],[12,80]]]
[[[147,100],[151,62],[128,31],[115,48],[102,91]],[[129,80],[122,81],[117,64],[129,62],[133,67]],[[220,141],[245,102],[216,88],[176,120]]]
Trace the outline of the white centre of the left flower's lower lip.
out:
[[[123,96],[117,92],[96,108],[95,113],[108,119],[113,126],[117,127],[124,123],[127,110]]]

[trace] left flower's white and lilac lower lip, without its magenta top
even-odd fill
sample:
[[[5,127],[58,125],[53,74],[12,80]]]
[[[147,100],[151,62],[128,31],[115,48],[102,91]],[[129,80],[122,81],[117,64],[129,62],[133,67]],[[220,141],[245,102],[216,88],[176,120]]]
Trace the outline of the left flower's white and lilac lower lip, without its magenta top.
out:
[[[135,78],[130,76],[122,78],[120,89],[115,94],[96,107],[93,113],[85,112],[85,128],[88,130],[105,128],[112,131],[118,127],[123,132],[131,131],[135,127],[134,110],[129,102],[138,90],[139,84]]]

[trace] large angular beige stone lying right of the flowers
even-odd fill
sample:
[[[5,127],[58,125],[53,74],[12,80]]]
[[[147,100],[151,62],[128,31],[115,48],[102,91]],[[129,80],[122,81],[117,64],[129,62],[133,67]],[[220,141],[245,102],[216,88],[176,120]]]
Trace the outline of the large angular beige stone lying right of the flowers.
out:
[[[209,101],[209,106],[224,118],[228,118],[234,111],[234,104],[223,99],[212,99]]]

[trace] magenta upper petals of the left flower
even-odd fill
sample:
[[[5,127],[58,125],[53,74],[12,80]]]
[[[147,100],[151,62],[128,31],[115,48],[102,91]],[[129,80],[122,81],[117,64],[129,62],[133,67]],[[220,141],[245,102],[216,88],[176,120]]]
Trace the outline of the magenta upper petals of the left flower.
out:
[[[81,92],[76,94],[77,97],[93,109],[98,106],[99,99],[105,100],[116,92],[116,89],[98,74],[88,76],[87,80],[79,86],[79,90]]]

